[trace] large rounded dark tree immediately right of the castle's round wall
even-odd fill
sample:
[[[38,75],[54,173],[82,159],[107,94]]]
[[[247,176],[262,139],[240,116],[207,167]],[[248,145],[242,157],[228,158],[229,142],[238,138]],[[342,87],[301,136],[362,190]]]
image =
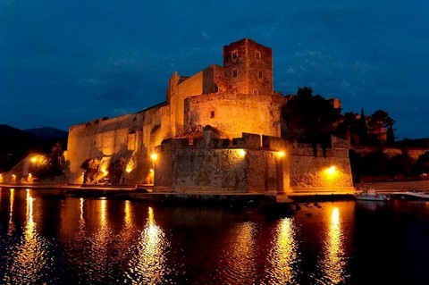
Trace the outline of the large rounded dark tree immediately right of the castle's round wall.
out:
[[[312,88],[298,88],[296,96],[282,108],[288,125],[288,138],[312,144],[326,145],[341,117],[341,109],[334,108],[323,96],[313,96]]]

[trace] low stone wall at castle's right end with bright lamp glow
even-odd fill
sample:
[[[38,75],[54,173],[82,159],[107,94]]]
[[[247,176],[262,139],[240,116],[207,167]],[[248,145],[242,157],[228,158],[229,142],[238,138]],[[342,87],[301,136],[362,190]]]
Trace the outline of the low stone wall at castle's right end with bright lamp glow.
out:
[[[350,190],[353,180],[349,163],[349,144],[332,137],[332,147],[325,151],[311,145],[290,146],[290,187],[320,191]]]

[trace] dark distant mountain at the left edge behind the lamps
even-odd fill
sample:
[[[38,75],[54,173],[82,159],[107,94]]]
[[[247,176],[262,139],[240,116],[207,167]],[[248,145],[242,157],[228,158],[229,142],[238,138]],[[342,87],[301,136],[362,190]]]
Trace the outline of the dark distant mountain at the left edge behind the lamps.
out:
[[[67,136],[54,128],[19,130],[0,124],[0,172],[7,172],[29,153],[50,153],[57,142],[67,148]]]

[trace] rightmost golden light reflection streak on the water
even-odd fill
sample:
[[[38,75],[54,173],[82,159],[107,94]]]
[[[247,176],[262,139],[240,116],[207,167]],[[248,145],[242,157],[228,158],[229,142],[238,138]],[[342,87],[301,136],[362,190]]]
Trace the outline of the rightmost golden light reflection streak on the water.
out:
[[[339,284],[345,281],[345,268],[347,260],[345,258],[343,239],[344,234],[341,229],[341,212],[338,207],[332,207],[330,213],[327,234],[324,240],[324,258],[319,266],[327,280],[332,284]]]

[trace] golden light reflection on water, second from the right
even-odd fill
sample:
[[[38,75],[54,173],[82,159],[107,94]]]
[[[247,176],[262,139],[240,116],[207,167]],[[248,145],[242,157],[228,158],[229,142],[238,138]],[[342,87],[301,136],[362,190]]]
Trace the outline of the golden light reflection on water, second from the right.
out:
[[[266,284],[293,284],[295,281],[299,262],[295,231],[293,219],[284,218],[278,222],[268,254],[272,267],[265,270]]]

